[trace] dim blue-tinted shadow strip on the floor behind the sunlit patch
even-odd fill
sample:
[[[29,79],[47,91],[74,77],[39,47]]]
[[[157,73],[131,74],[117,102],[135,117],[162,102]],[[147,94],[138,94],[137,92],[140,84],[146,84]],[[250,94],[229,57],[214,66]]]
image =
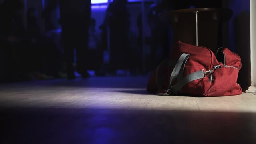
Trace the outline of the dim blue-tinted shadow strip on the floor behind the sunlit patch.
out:
[[[146,88],[148,76],[118,76],[118,77],[89,77],[86,79],[77,78],[75,80],[54,79],[38,80],[27,82],[16,82],[0,84],[2,86],[67,86],[67,87],[97,87],[97,88]]]

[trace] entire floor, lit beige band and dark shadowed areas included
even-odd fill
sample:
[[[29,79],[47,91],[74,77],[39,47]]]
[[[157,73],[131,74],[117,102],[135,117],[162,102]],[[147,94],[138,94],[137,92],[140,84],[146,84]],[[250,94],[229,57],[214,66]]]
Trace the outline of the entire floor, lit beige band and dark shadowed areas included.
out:
[[[0,84],[0,143],[256,142],[256,95],[155,96],[147,79]]]

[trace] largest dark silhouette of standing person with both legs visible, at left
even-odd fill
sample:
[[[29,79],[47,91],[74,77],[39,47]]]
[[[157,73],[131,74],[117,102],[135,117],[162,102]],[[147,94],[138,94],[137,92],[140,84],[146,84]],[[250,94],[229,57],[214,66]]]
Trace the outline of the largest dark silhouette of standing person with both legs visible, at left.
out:
[[[43,16],[49,14],[59,4],[60,24],[64,45],[68,79],[74,79],[74,49],[76,49],[77,72],[87,77],[86,51],[88,45],[91,0],[49,0]]]

